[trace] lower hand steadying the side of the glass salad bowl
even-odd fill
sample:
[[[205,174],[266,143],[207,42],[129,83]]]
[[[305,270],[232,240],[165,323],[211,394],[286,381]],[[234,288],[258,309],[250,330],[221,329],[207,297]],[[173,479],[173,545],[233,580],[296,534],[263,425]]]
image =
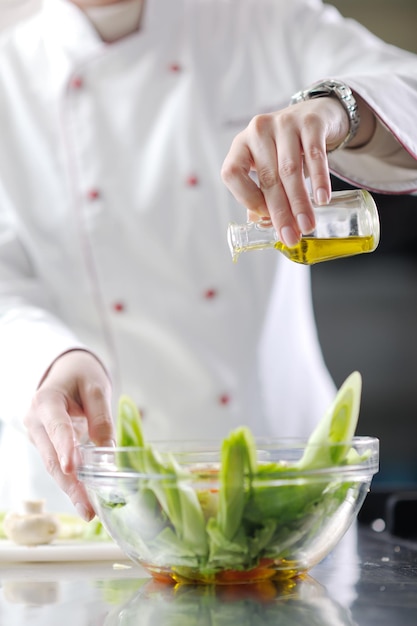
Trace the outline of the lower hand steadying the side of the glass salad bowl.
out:
[[[73,350],[54,361],[25,417],[46,469],[86,520],[95,513],[75,473],[74,446],[83,436],[97,445],[113,445],[110,397],[101,363],[87,351]]]

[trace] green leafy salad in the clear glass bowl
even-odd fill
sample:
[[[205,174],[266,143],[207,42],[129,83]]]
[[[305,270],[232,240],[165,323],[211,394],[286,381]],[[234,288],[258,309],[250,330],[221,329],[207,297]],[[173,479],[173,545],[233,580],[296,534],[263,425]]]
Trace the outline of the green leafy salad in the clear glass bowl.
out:
[[[124,478],[96,494],[100,519],[162,580],[246,582],[306,571],[311,546],[321,560],[369,487],[372,472],[357,469],[371,450],[352,442],[360,396],[353,372],[294,460],[259,456],[240,427],[223,440],[218,461],[190,463],[148,443],[135,404],[122,396],[114,455]],[[332,530],[335,515],[344,517]]]

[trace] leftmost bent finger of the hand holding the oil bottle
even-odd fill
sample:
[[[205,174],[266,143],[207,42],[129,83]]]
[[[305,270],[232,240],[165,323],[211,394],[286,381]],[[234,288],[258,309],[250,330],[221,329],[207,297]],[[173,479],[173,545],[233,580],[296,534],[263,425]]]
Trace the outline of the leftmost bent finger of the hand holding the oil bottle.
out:
[[[252,154],[241,133],[235,137],[223,162],[221,177],[240,204],[258,216],[268,215],[262,191],[250,176],[252,170]]]

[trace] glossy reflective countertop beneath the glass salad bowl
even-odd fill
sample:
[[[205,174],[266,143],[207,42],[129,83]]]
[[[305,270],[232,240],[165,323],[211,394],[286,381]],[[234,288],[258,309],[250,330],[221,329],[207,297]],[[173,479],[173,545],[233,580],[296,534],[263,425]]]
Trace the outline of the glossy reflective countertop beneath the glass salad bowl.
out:
[[[167,586],[130,561],[1,563],[1,626],[416,626],[417,544],[351,529],[286,583]]]

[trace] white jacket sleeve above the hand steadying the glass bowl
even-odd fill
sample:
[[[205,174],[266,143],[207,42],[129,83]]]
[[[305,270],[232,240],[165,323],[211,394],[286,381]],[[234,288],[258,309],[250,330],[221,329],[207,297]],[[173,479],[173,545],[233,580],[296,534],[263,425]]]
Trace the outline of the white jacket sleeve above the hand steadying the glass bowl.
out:
[[[0,420],[22,419],[50,364],[81,342],[55,317],[13,224],[0,208]]]

